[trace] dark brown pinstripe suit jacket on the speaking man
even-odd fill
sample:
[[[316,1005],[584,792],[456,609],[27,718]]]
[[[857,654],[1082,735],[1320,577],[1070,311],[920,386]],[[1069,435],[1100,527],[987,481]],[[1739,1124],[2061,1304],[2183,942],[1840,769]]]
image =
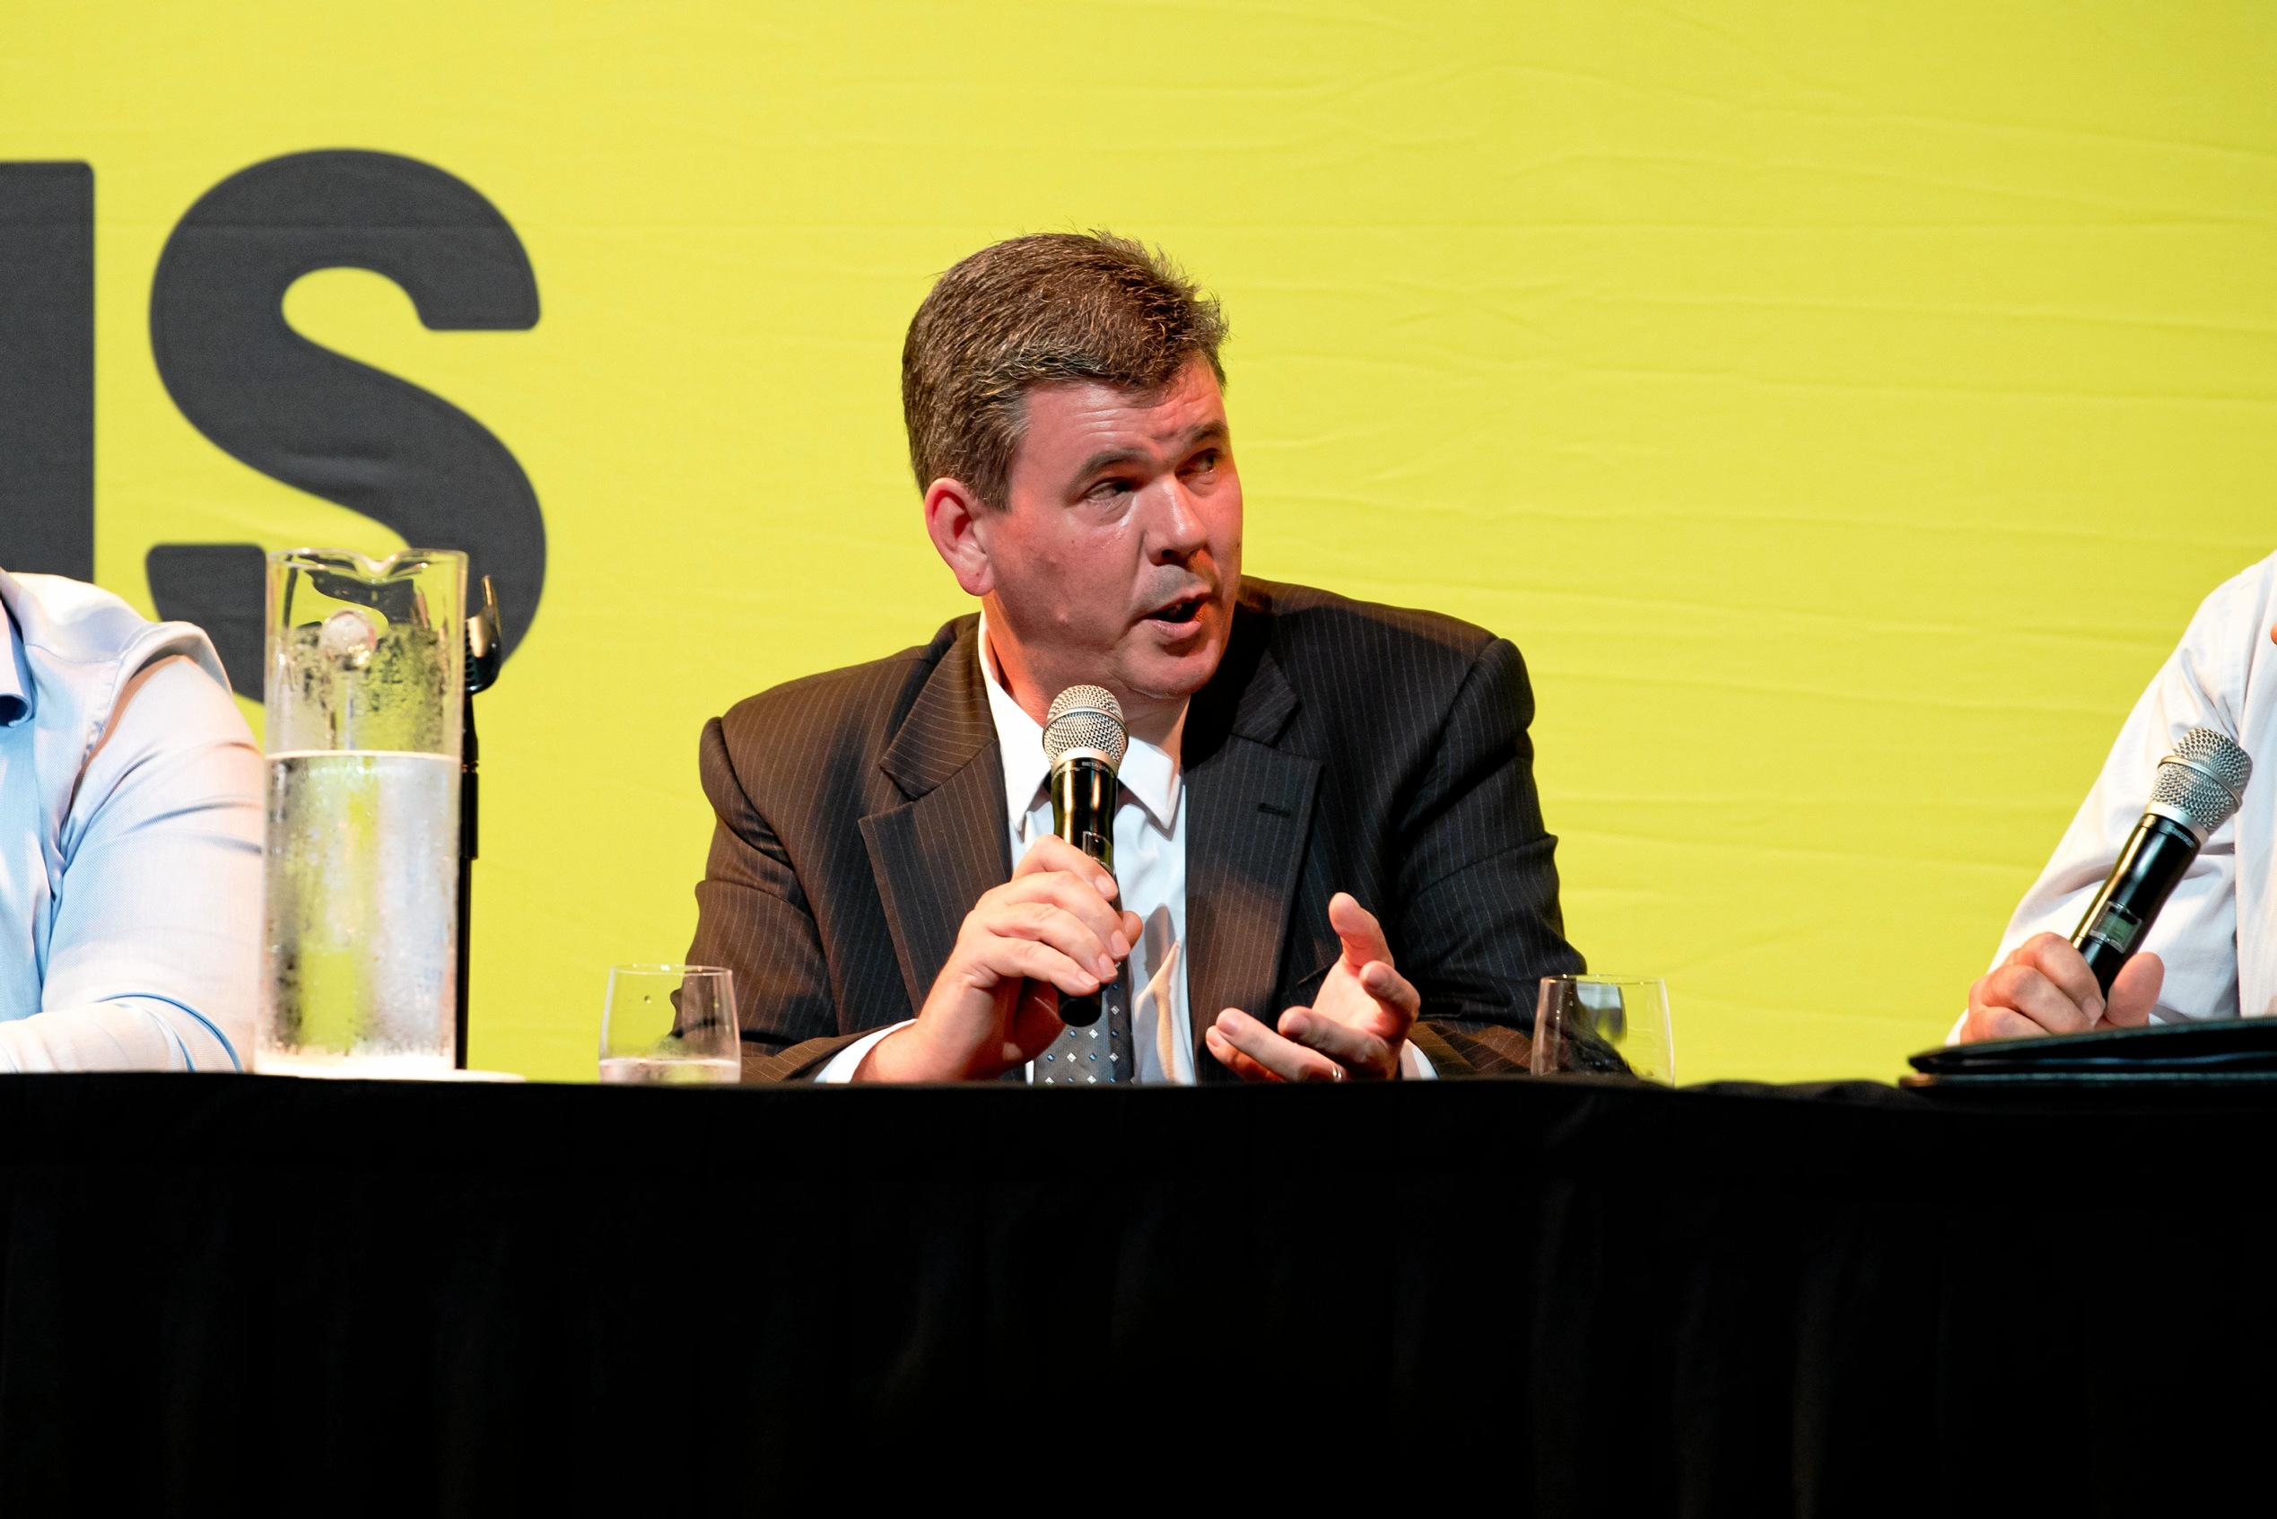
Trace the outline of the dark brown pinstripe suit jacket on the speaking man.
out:
[[[813,1075],[911,1018],[1011,877],[977,617],[776,685],[704,726],[717,813],[694,966],[735,972],[745,1079]],[[1535,986],[1580,970],[1535,797],[1532,692],[1482,629],[1246,578],[1186,713],[1186,991],[1266,1020],[1337,963],[1327,900],[1375,911],[1441,1075],[1523,1070]],[[1205,1082],[1234,1079],[1195,1050]]]

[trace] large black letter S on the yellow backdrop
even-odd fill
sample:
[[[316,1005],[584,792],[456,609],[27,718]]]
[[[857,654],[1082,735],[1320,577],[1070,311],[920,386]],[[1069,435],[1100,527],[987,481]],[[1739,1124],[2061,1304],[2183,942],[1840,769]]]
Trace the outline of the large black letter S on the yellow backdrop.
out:
[[[433,164],[294,153],[205,191],[150,285],[150,348],[182,414],[221,451],[412,547],[465,549],[469,572],[499,583],[512,654],[546,578],[537,492],[467,412],[287,326],[285,292],[317,269],[387,276],[433,330],[526,330],[537,326],[537,276],[521,239],[480,191]],[[262,690],[255,567],[235,544],[150,551],[159,613],[205,624],[250,697]]]

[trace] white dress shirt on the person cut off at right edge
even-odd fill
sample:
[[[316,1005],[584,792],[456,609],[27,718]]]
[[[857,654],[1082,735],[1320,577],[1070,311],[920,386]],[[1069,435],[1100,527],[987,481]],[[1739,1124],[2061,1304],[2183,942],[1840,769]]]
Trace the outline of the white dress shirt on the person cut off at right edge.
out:
[[[2154,1023],[2277,1013],[2277,556],[2216,590],[2120,729],[2104,772],[2054,859],[2017,904],[1992,963],[2040,931],[2079,929],[2127,836],[2143,820],[2159,761],[2190,729],[2236,740],[2254,761],[2245,806],[2197,852],[2143,950],[2165,961]],[[1967,1013],[1963,1013],[1963,1023]],[[1960,1023],[1951,1038],[1960,1036]]]

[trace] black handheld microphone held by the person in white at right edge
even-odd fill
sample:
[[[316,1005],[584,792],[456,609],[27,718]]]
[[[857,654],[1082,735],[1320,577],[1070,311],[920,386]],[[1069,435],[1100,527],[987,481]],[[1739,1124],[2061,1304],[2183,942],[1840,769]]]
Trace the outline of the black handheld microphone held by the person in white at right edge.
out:
[[[2181,872],[2238,811],[2252,777],[2252,756],[2213,729],[2190,729],[2159,761],[2143,822],[2072,934],[2072,945],[2086,956],[2104,995],[2111,995],[2111,982],[2127,956],[2143,945],[2143,934]]]

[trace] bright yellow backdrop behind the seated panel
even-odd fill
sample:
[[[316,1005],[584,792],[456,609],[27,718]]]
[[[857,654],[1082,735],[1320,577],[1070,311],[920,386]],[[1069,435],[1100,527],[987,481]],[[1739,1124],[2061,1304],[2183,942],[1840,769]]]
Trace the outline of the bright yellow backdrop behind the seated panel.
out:
[[[2272,547],[2272,77],[2243,0],[89,2],[0,50],[0,159],[96,171],[96,567],[143,608],[155,542],[398,547],[168,403],[203,191],[378,148],[528,248],[526,332],[287,301],[544,506],[476,1064],[587,1075],[606,966],[685,950],[708,715],[961,610],[902,328],[1109,225],[1225,298],[1250,567],[1528,654],[1571,934],[1669,977],[1683,1075],[1888,1077]]]

